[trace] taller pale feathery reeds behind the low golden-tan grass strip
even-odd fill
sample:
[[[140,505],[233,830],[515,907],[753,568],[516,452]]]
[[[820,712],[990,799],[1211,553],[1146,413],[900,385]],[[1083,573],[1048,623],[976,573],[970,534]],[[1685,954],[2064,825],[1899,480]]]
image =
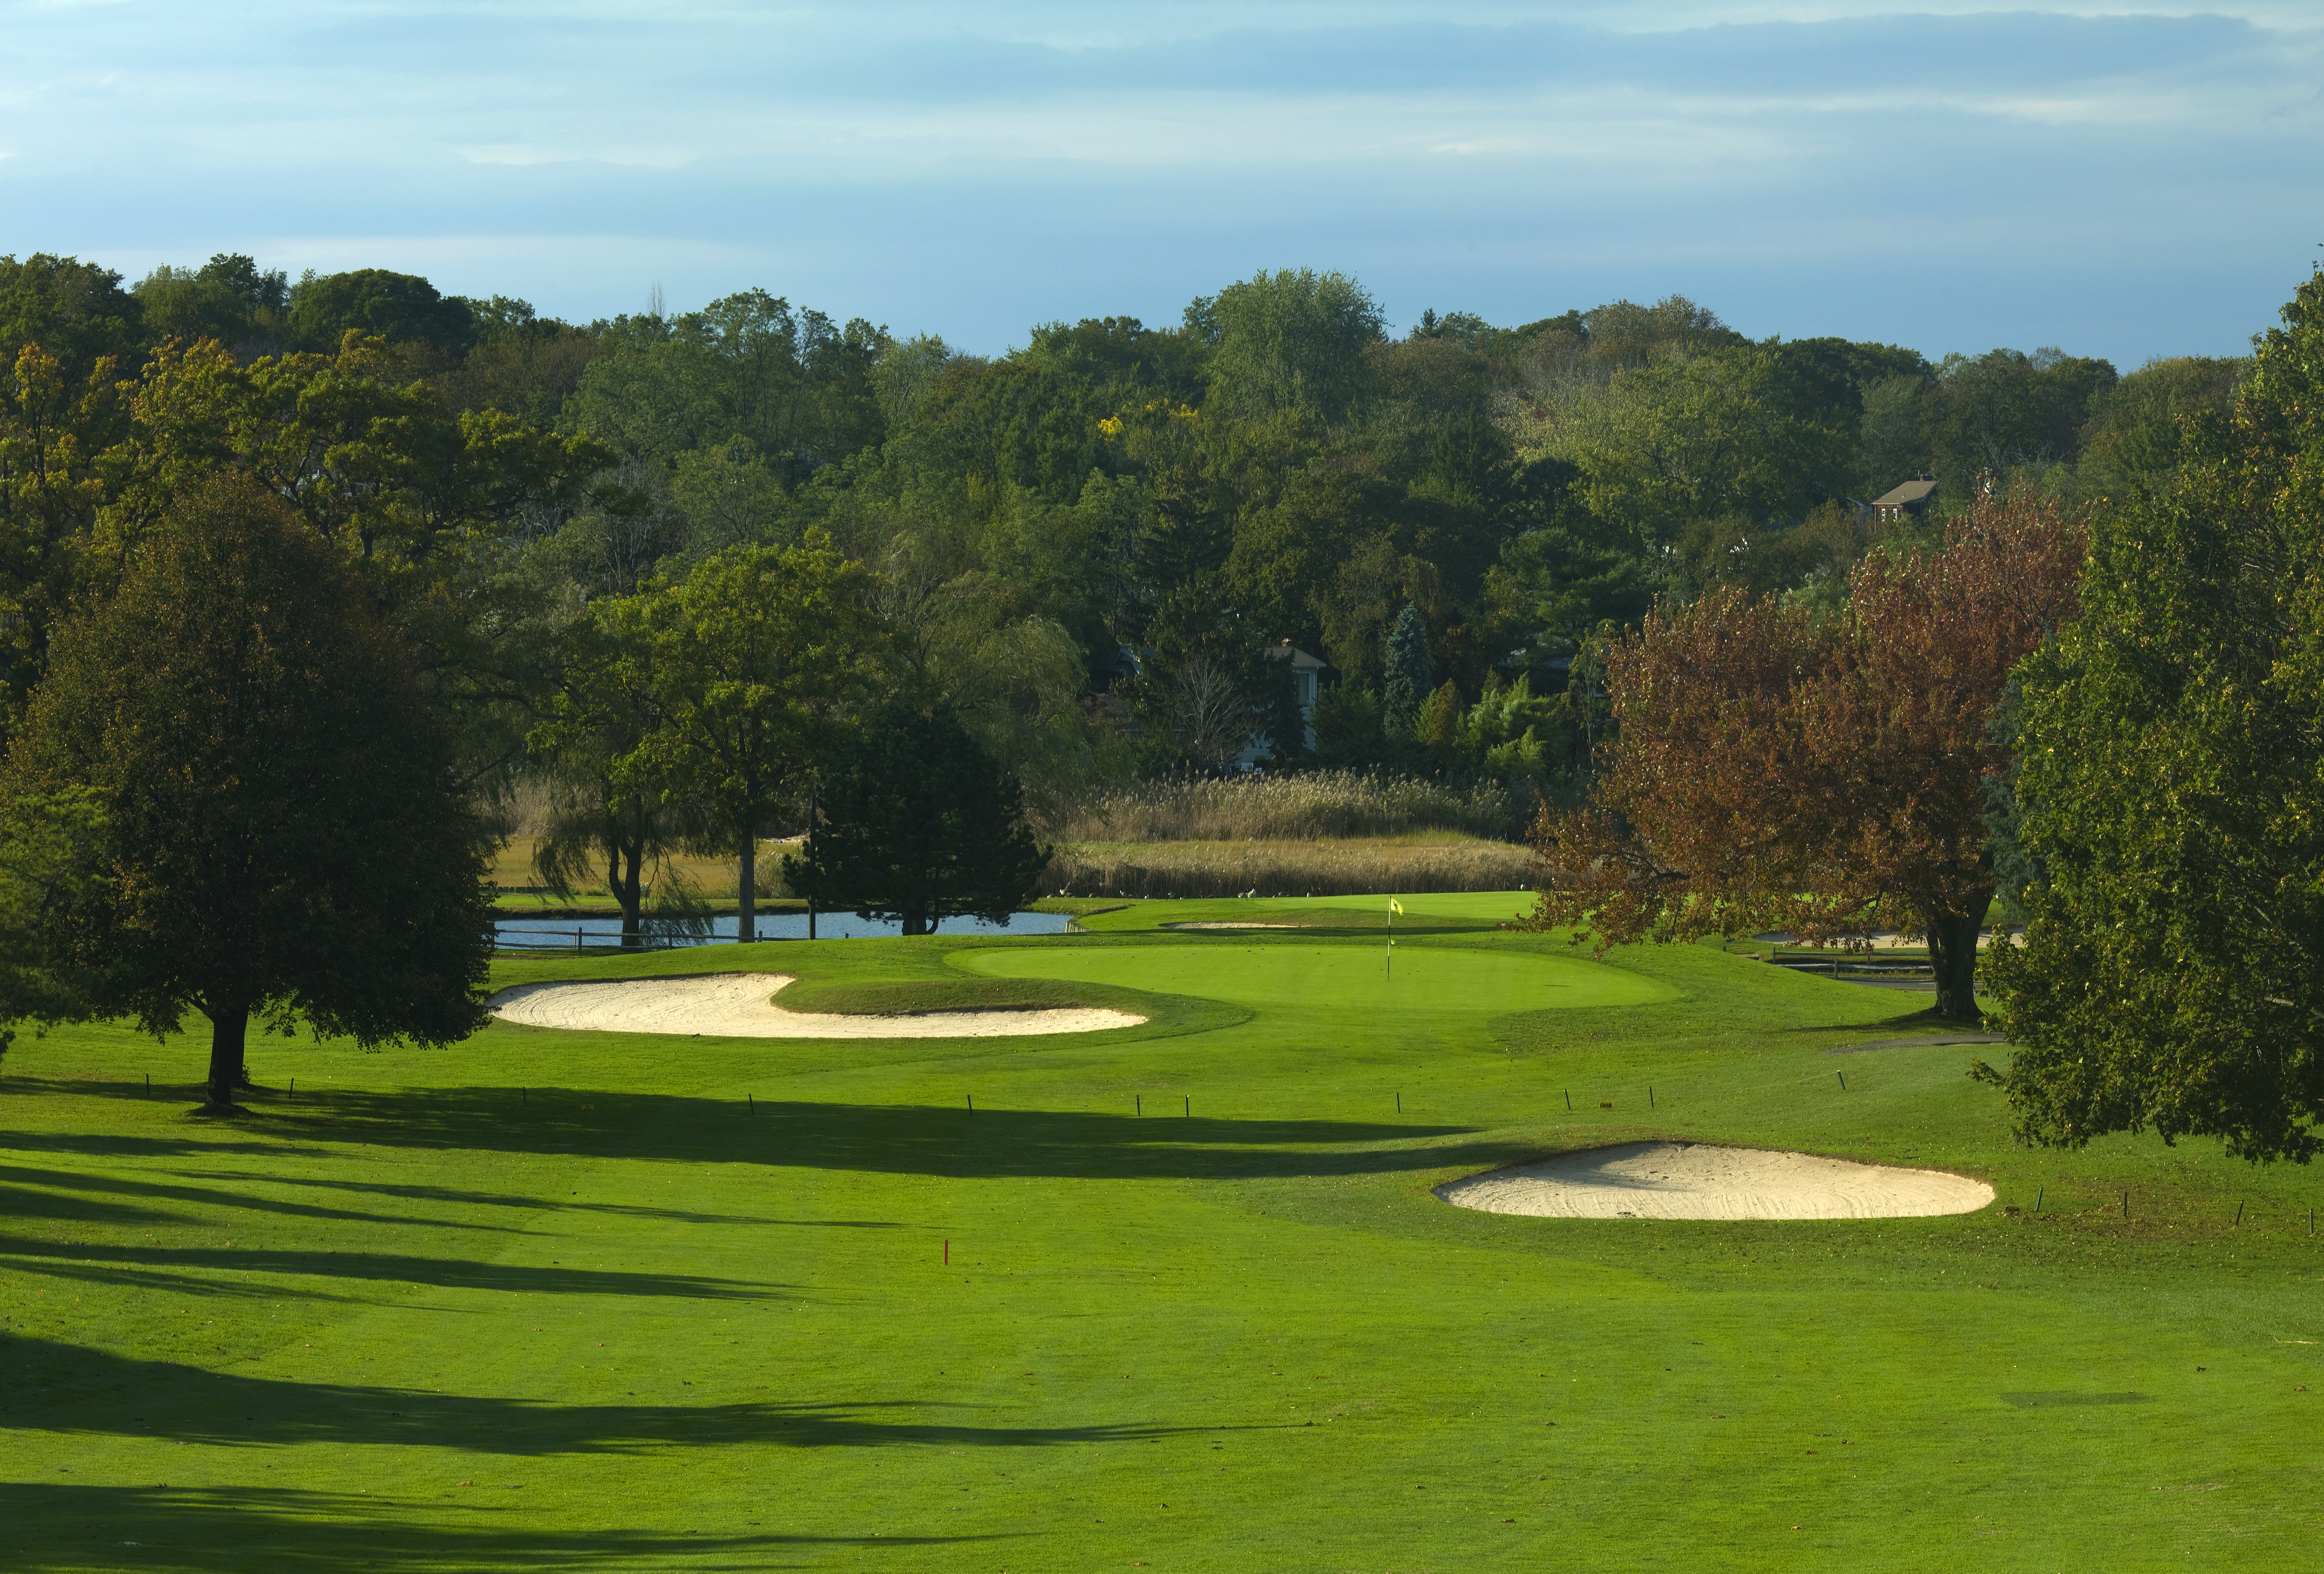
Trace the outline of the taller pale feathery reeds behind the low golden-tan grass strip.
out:
[[[1450,787],[1411,775],[1190,775],[1111,787],[1050,826],[1060,843],[1306,843],[1348,836],[1459,831],[1518,840],[1534,813],[1527,787]],[[1469,887],[1446,887],[1469,889]]]

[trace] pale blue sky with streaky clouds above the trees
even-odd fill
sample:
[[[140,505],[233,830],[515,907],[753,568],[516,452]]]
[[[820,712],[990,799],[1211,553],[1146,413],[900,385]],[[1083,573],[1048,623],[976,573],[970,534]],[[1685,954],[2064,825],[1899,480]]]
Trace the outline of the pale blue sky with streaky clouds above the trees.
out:
[[[1687,295],[2233,355],[2324,258],[2324,0],[0,0],[0,251],[576,320],[767,288],[999,353],[1271,267],[1392,327]]]

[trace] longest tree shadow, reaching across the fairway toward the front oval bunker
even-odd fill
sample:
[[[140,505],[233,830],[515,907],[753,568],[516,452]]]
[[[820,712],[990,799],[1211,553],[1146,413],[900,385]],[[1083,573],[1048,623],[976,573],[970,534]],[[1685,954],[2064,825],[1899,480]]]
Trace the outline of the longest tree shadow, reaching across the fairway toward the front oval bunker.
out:
[[[1157,1103],[1174,1103],[1171,1098]],[[590,1154],[781,1168],[948,1177],[1250,1179],[1369,1175],[1501,1158],[1506,1145],[1450,1145],[1473,1126],[1336,1119],[1211,1119],[1157,1112],[1090,1114],[930,1105],[758,1103],[581,1089],[332,1091],[297,1107],[270,1107],[251,1126],[286,1147],[372,1147]],[[23,1151],[135,1156],[102,1133],[14,1133]],[[156,1140],[153,1156],[207,1156],[198,1140]],[[249,1151],[235,1147],[232,1151]]]

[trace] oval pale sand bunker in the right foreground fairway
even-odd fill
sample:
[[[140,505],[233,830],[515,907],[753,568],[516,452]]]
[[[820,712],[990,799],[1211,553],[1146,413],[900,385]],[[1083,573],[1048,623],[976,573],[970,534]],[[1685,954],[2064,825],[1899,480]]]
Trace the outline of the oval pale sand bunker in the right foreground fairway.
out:
[[[1973,1214],[1994,1189],[1943,1170],[1624,1142],[1436,1186],[1455,1207],[1543,1219],[1917,1219]]]

